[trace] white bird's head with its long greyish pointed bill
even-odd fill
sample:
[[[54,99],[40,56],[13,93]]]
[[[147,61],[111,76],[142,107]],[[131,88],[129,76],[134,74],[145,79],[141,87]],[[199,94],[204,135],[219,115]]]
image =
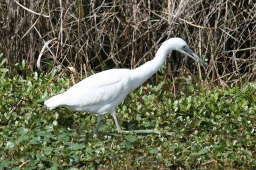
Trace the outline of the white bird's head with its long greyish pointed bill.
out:
[[[202,67],[207,67],[205,62],[203,62],[203,60],[201,60],[201,58],[199,58],[199,56],[197,56],[197,54],[195,54],[195,52],[193,52],[193,50],[189,48],[187,42],[185,42],[183,39],[171,38],[170,43],[172,43],[173,50],[177,50],[179,52],[182,52],[183,54],[187,54],[190,58],[195,60],[195,62],[199,63],[199,65],[201,65]]]

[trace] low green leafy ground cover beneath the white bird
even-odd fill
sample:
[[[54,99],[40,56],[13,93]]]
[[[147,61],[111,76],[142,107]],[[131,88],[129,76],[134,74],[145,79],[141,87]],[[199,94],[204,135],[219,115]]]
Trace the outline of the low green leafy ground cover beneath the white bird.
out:
[[[164,83],[144,85],[117,108],[119,122],[163,133],[118,134],[108,115],[93,137],[95,115],[43,106],[70,79],[55,73],[10,78],[6,71],[0,76],[0,169],[256,169],[255,83],[207,91],[189,85],[176,97]]]

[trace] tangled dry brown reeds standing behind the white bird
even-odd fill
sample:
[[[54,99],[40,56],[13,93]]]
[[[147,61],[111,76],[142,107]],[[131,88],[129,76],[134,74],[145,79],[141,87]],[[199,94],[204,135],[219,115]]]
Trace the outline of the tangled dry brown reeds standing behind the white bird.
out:
[[[0,52],[9,74],[28,69],[88,75],[135,68],[161,42],[181,37],[208,62],[206,73],[172,52],[168,71],[199,73],[219,85],[255,80],[255,1],[0,1]],[[189,65],[190,64],[190,65]],[[199,71],[199,72],[198,72]],[[77,74],[78,75],[78,74]]]

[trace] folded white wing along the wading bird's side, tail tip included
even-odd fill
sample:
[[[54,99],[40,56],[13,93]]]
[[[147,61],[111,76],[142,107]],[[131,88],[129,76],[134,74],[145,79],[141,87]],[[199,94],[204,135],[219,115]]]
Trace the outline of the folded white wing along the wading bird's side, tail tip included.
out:
[[[55,102],[50,108],[59,105],[94,106],[105,105],[115,101],[120,95],[129,93],[129,70],[113,69],[92,75],[77,83],[64,93],[56,95],[46,101]],[[51,105],[51,104],[48,104]]]

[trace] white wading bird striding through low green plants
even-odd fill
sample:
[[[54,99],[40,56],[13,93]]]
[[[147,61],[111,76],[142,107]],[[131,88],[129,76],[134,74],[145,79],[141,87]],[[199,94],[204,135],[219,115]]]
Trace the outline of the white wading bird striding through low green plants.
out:
[[[190,58],[206,68],[207,65],[181,38],[170,38],[162,43],[154,58],[136,69],[109,69],[96,73],[73,85],[67,91],[44,101],[50,110],[66,107],[71,111],[91,112],[97,114],[94,134],[98,134],[100,122],[105,114],[112,114],[118,132],[124,132],[117,121],[116,108],[125,97],[137,89],[164,65],[166,56],[172,50],[187,54]],[[141,130],[133,130],[142,132]],[[126,132],[126,131],[125,131]],[[145,133],[156,132],[144,130]]]

